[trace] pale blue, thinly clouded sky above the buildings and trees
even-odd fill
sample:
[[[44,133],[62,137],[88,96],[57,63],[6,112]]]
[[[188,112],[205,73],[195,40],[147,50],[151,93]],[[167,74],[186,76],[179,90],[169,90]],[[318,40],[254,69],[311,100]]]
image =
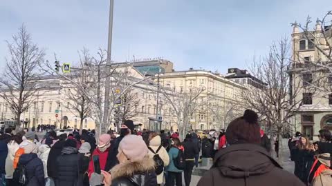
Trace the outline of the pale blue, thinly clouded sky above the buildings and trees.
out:
[[[112,59],[163,56],[176,70],[225,73],[290,37],[293,21],[328,10],[331,0],[115,0]],[[83,47],[107,49],[108,19],[108,0],[0,0],[0,68],[22,23],[46,59],[73,63]]]

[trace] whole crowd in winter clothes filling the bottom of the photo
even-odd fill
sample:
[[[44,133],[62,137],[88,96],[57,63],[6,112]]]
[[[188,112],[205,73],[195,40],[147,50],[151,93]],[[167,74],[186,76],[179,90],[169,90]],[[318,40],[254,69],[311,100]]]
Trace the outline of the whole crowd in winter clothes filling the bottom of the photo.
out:
[[[299,132],[291,138],[293,175],[271,158],[270,140],[252,110],[226,131],[203,139],[190,132],[183,141],[176,132],[137,132],[130,120],[120,134],[109,131],[98,141],[87,130],[59,136],[50,130],[39,140],[35,132],[8,128],[0,136],[0,186],[180,186],[183,178],[189,186],[201,158],[214,161],[199,186],[324,186],[332,183],[331,133],[320,131],[320,139],[311,144]]]

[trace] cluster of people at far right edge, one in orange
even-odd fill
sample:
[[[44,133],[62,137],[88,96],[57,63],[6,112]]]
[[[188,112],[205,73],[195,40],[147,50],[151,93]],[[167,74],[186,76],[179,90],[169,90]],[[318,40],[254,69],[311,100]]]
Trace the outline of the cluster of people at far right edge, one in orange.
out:
[[[295,163],[294,174],[306,185],[324,186],[332,183],[332,135],[329,130],[320,130],[319,133],[320,141],[315,143],[311,143],[300,132],[296,132],[288,141],[291,160]]]

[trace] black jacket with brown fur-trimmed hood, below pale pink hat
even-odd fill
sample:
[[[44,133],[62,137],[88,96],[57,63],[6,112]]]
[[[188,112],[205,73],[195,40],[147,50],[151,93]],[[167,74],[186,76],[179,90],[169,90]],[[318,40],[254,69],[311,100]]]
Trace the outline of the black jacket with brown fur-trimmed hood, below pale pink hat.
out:
[[[123,163],[111,170],[111,186],[156,186],[154,161],[147,156],[141,162]]]

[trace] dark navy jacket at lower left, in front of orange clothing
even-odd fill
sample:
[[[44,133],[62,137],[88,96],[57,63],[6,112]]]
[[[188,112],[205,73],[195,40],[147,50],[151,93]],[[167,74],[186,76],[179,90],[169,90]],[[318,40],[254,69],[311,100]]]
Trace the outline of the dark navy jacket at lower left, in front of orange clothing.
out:
[[[19,164],[24,165],[26,168],[26,174],[28,176],[27,186],[44,186],[44,165],[41,159],[38,158],[37,154],[22,154],[19,157]]]

